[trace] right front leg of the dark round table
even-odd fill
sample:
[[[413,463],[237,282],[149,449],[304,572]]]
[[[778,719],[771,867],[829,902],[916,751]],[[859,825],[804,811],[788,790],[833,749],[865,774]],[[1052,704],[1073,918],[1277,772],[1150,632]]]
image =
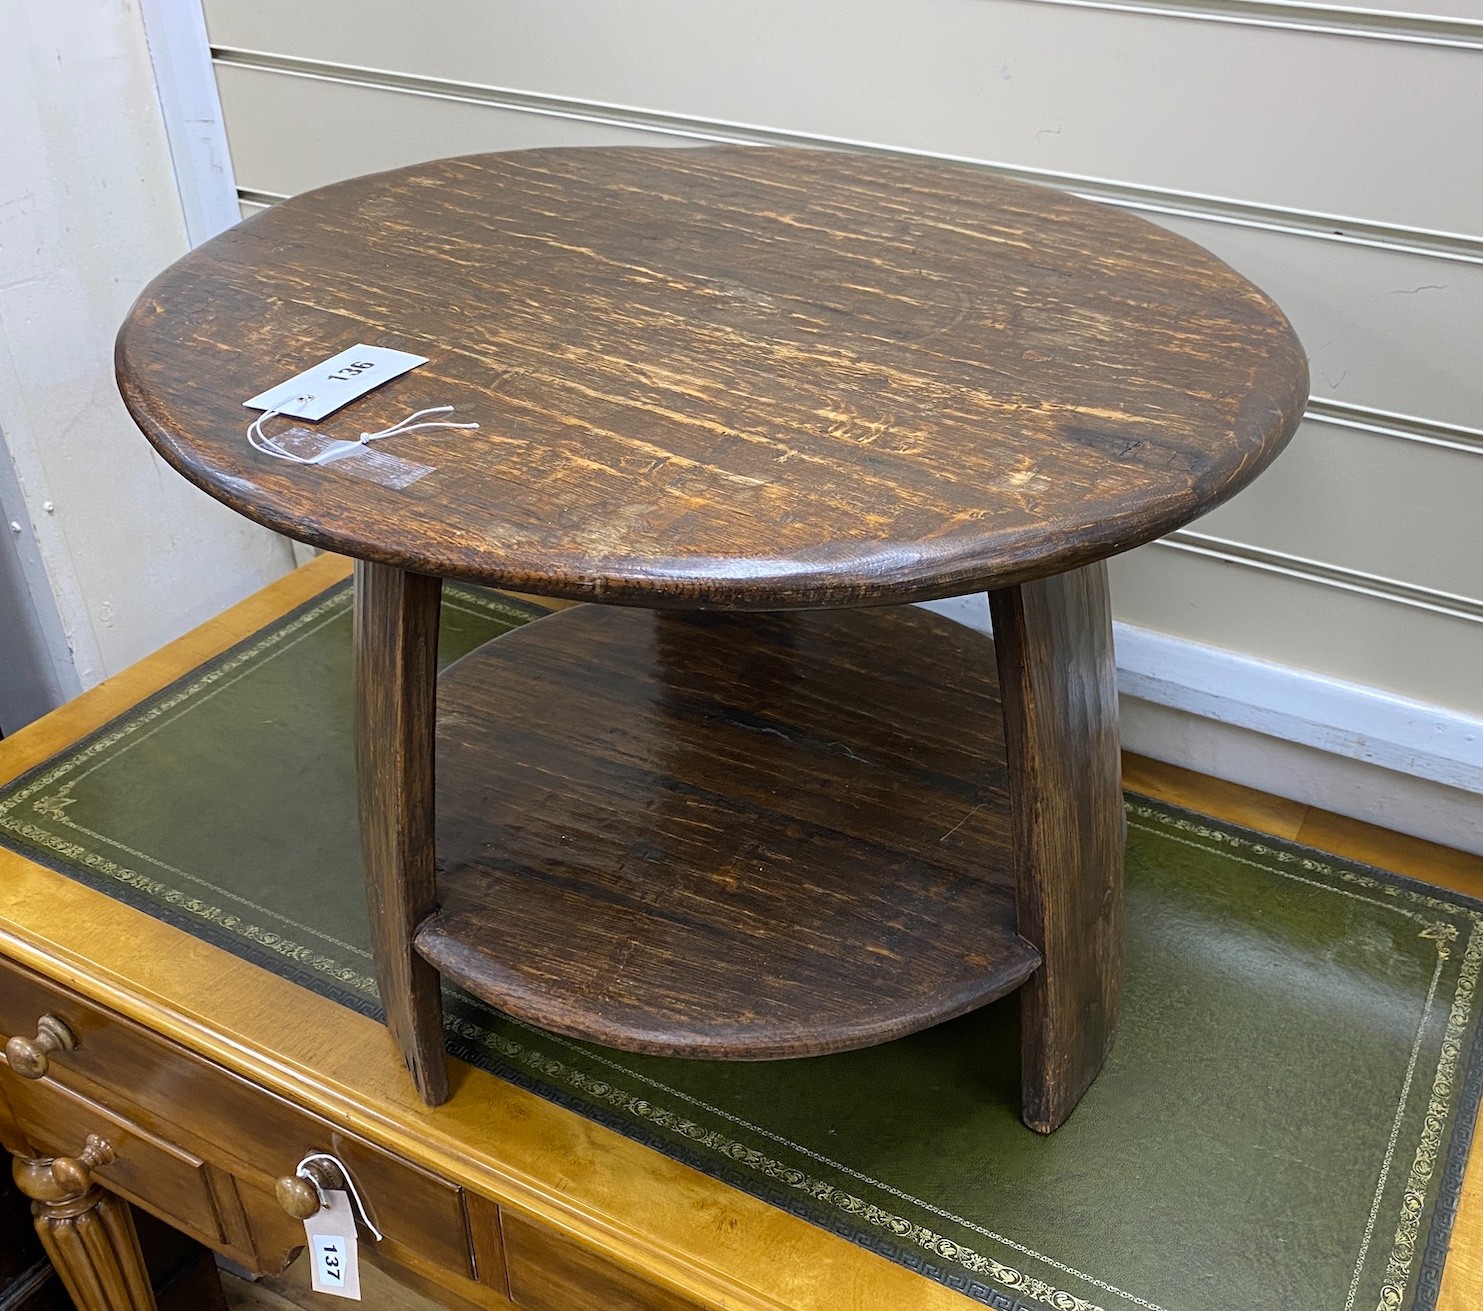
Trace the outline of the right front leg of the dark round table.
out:
[[[1106,565],[989,593],[1019,931],[1022,1115],[1050,1133],[1106,1060],[1123,992],[1123,792]]]

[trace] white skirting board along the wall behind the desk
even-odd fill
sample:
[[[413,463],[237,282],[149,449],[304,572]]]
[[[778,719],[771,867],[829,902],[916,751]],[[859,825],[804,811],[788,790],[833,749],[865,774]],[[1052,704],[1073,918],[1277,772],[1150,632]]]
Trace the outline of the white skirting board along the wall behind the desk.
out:
[[[989,632],[982,596],[930,610]],[[1483,719],[1114,624],[1123,746],[1483,854]]]

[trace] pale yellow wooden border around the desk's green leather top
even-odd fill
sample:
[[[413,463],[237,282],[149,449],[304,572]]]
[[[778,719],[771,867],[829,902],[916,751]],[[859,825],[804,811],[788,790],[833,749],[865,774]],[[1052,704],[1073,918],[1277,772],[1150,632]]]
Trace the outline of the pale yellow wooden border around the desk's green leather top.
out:
[[[279,614],[346,577],[322,556],[154,656],[0,742],[12,779]],[[559,604],[559,602],[558,602]],[[1129,758],[1127,785],[1283,838],[1366,859],[1364,826]],[[1330,833],[1338,839],[1324,841]],[[1439,856],[1440,853],[1440,856]],[[1483,860],[1401,841],[1403,874],[1477,894]],[[117,931],[117,921],[128,924]],[[113,931],[105,925],[114,921]],[[675,1292],[749,1311],[977,1305],[881,1256],[758,1201],[483,1071],[455,1065],[455,1094],[424,1106],[383,1026],[199,939],[0,851],[0,949],[22,965],[357,1132],[540,1219]],[[255,1008],[245,1013],[243,997]],[[338,1028],[319,1049],[311,1034]],[[492,1129],[491,1129],[492,1126]],[[1483,1286],[1483,1154],[1468,1163],[1437,1311],[1467,1311]]]

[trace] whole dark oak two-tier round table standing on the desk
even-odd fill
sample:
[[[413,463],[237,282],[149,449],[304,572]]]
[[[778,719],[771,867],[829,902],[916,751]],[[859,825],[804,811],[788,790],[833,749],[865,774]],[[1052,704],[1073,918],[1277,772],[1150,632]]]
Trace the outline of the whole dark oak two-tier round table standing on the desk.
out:
[[[429,362],[300,429],[478,430],[380,442],[420,470],[381,482],[249,446],[248,397],[357,344]],[[117,365],[185,478],[357,561],[377,977],[429,1102],[443,974],[727,1059],[1019,989],[1023,1118],[1071,1112],[1121,988],[1103,561],[1296,427],[1307,363],[1261,291],[971,168],[521,151],[273,206],[156,279]],[[443,578],[608,604],[439,679]],[[992,642],[897,605],[980,590]]]

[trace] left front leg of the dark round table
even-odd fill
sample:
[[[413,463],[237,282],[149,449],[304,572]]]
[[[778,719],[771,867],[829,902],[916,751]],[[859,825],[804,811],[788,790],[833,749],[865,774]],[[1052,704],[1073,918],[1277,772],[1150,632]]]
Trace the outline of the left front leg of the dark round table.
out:
[[[356,564],[356,783],[377,985],[430,1106],[448,1100],[437,971],[412,948],[437,906],[433,730],[442,580]]]

